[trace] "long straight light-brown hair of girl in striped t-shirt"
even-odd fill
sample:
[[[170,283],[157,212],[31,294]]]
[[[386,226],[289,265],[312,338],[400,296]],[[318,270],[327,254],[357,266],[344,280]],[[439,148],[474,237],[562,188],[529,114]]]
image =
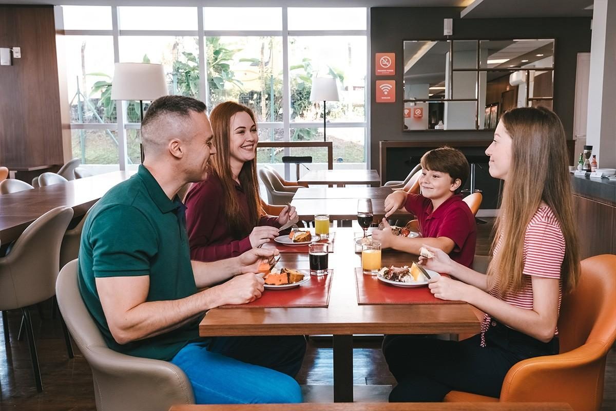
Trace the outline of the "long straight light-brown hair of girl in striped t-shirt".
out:
[[[543,201],[561,225],[565,240],[561,283],[562,291],[569,292],[577,284],[580,266],[561,120],[547,108],[522,107],[504,113],[501,121],[513,139],[512,157],[496,219],[492,253],[499,238],[501,246],[488,267],[488,283],[490,287],[500,283],[502,295],[521,290],[524,234]]]

